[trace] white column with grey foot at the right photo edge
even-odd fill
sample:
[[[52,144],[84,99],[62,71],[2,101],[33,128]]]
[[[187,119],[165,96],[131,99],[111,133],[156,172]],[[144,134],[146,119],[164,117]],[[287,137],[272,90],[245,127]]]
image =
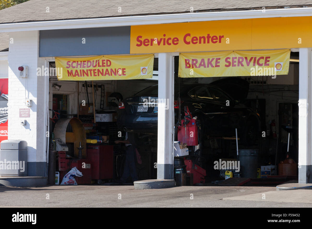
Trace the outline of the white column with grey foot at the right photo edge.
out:
[[[311,48],[299,49],[299,183],[312,183],[311,171]],[[310,106],[309,106],[310,104]]]

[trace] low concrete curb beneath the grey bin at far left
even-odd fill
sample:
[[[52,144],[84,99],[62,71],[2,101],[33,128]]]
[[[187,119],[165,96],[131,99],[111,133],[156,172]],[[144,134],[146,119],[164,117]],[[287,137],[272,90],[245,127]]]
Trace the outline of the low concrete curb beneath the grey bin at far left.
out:
[[[47,184],[47,177],[0,177],[0,186],[35,187]]]

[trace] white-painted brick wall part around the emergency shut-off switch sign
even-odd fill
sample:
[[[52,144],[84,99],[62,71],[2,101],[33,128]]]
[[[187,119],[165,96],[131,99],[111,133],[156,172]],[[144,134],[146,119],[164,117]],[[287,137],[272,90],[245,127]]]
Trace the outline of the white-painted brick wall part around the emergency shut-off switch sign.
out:
[[[28,143],[28,162],[46,161],[46,126],[44,99],[45,79],[37,77],[37,67],[45,64],[39,58],[39,31],[11,32],[13,44],[9,45],[8,82],[9,111],[8,139],[22,139]],[[28,78],[19,78],[18,66],[28,66]],[[32,99],[32,107],[26,107],[25,99]],[[19,109],[30,108],[29,118],[20,118]],[[22,126],[21,121],[27,120]]]

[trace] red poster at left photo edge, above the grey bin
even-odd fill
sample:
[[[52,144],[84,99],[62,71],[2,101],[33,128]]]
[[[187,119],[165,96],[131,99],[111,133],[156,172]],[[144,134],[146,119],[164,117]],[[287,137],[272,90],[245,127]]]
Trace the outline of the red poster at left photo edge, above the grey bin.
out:
[[[8,79],[0,79],[0,142],[7,140]]]

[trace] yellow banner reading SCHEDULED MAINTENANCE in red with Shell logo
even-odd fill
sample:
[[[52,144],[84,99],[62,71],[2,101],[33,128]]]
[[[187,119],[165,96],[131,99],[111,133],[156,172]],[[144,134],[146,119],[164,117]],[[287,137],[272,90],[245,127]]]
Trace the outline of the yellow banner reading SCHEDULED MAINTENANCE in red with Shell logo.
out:
[[[58,80],[149,79],[153,77],[154,54],[56,57],[55,64]]]

